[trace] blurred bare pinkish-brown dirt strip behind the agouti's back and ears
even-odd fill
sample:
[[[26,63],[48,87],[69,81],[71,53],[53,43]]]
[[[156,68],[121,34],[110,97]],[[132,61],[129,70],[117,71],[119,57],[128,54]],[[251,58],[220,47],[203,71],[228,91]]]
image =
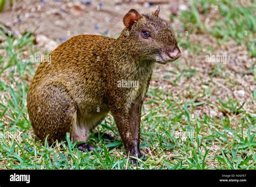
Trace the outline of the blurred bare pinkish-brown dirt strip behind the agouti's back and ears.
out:
[[[178,6],[176,1],[168,0],[157,4],[161,6],[161,17],[166,20],[169,20],[172,8]],[[148,13],[155,11],[156,7],[147,1],[18,1],[11,9],[6,4],[0,22],[19,32],[35,30],[36,34],[57,40],[78,34],[106,33],[116,38],[124,28],[123,17],[130,9]]]

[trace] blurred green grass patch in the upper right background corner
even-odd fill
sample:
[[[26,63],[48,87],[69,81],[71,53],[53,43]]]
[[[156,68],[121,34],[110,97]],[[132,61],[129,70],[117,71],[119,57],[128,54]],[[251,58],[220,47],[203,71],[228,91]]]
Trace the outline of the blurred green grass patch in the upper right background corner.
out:
[[[241,6],[237,1],[190,1],[191,9],[182,11],[179,17],[188,33],[204,33],[218,39],[219,44],[235,40],[237,44],[247,46],[252,57],[255,53],[256,4]],[[200,16],[200,12],[204,16]],[[254,39],[253,39],[254,38]],[[181,45],[186,45],[186,42]],[[194,47],[193,45],[191,46]]]

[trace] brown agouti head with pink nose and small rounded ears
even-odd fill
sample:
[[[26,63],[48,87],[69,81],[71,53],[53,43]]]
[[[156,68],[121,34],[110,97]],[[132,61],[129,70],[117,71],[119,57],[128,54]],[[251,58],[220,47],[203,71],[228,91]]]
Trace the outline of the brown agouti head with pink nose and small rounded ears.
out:
[[[159,8],[142,16],[131,9],[123,19],[124,31],[131,51],[142,59],[165,64],[177,60],[181,53],[169,24],[158,15]]]

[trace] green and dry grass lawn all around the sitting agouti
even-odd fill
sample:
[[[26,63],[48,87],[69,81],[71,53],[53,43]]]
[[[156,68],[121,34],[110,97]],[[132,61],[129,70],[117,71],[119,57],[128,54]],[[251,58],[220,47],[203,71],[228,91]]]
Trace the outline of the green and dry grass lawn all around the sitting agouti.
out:
[[[219,2],[220,3],[220,2]],[[228,42],[235,40],[236,45],[242,45],[243,38],[239,33],[247,29],[255,31],[255,25],[250,30],[248,24],[242,23],[237,31],[232,24],[237,19],[232,15],[235,11],[244,11],[250,17],[251,10],[245,10],[235,5],[231,9],[230,1],[221,2],[222,11],[228,10],[228,20],[214,22],[217,25],[226,25],[224,35],[214,34],[218,27],[207,28],[201,21],[211,11],[212,1],[191,2],[192,17],[185,19],[187,11],[183,12],[180,20],[186,31],[188,23],[191,32],[199,31],[198,36],[211,34],[217,41]],[[203,7],[204,13],[199,13]],[[225,8],[224,8],[225,7]],[[230,12],[231,11],[231,12]],[[255,18],[253,18],[255,21]],[[233,21],[233,22],[232,22]],[[230,24],[230,25],[228,25]],[[114,142],[107,139],[95,138],[92,132],[89,143],[95,147],[93,153],[82,153],[77,143],[70,141],[67,134],[65,142],[57,142],[56,146],[49,146],[47,142],[35,139],[26,109],[26,93],[39,62],[31,62],[31,55],[40,49],[33,47],[34,37],[25,33],[21,38],[15,35],[5,35],[1,27],[0,34],[4,41],[0,44],[0,168],[1,169],[256,169],[256,118],[253,104],[255,104],[255,90],[251,97],[239,102],[239,98],[232,95],[223,97],[218,95],[219,87],[215,86],[216,78],[226,81],[221,85],[231,89],[240,87],[240,83],[226,74],[228,67],[216,64],[211,71],[206,72],[208,81],[204,80],[201,69],[194,65],[196,60],[180,61],[169,70],[163,80],[158,74],[153,80],[161,80],[162,84],[170,84],[173,88],[181,88],[182,94],[176,90],[167,91],[158,85],[152,84],[143,107],[141,142],[142,152],[147,156],[146,161],[139,161],[134,167],[127,162],[124,147],[112,116],[100,124],[96,131],[111,133]],[[180,44],[189,54],[202,54],[201,48],[191,42],[191,34],[181,36]],[[248,34],[248,40],[253,38]],[[255,38],[255,37],[254,37]],[[247,42],[247,41],[245,41]],[[249,48],[250,45],[246,46]],[[218,46],[217,46],[218,48]],[[206,48],[207,53],[216,50],[211,44]],[[205,54],[203,53],[203,54]],[[253,56],[253,51],[248,54]],[[200,65],[199,65],[200,66]],[[256,80],[254,65],[248,72]],[[236,76],[240,72],[233,73]],[[195,81],[193,78],[198,78]],[[197,82],[203,82],[200,89],[194,88]],[[255,87],[254,87],[255,88]],[[216,99],[211,99],[215,97]],[[207,112],[202,112],[207,109]],[[199,112],[199,113],[198,113]],[[222,116],[214,113],[221,113]]]

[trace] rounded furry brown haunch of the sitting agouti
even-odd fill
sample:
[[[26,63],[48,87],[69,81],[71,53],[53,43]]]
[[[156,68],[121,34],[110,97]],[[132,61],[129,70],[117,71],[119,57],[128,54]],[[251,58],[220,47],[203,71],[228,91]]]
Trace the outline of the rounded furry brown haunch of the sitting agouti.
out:
[[[71,133],[76,107],[62,83],[48,82],[31,89],[28,110],[33,130],[41,140],[48,136],[52,144]]]

